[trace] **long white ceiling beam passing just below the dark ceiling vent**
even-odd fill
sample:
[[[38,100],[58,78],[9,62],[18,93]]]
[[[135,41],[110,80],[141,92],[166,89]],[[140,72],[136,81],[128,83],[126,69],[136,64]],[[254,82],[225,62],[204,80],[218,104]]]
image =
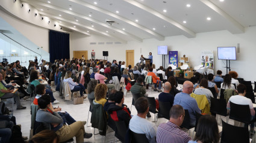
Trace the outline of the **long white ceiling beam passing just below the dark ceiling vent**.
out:
[[[95,22],[95,23],[97,23],[97,24],[99,24],[101,26],[104,26],[104,27],[108,28],[108,29],[112,29],[113,31],[119,32],[119,33],[121,33],[123,35],[126,35],[128,37],[131,37],[131,38],[133,38],[136,41],[140,41],[140,42],[143,41],[142,38],[136,37],[136,35],[130,34],[129,32],[123,31],[123,30],[118,29],[118,28],[114,28],[113,26],[110,27],[106,23],[100,22],[99,20],[92,19],[90,17],[84,16],[84,15],[79,14],[79,13],[75,13],[73,11],[65,10],[63,8],[56,7],[54,5],[46,4],[44,2],[39,2],[39,1],[24,0],[23,2],[27,2],[28,4],[31,4],[31,5],[38,5],[38,6],[52,8],[54,10],[61,11],[63,13],[67,13],[67,14],[70,14],[70,15],[75,16],[75,17],[80,17],[81,19],[86,19],[86,20],[89,20],[91,22]]]

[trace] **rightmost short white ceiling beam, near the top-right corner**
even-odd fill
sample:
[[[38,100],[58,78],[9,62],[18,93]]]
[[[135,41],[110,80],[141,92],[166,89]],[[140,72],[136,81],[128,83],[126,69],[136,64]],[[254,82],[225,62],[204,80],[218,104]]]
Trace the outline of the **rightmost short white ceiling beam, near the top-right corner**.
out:
[[[231,32],[232,34],[239,34],[245,32],[245,28],[237,22],[233,17],[229,16],[225,11],[217,7],[213,2],[210,2],[208,0],[200,0],[202,3],[210,7],[212,10],[216,11],[216,13],[219,13],[220,16],[224,17],[227,19],[233,26],[228,27],[228,31]]]

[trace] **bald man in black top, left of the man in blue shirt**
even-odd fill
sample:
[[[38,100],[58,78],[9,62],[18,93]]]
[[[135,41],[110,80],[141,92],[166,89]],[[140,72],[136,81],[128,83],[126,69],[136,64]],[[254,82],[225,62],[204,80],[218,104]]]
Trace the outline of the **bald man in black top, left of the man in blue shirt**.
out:
[[[158,100],[160,102],[169,102],[170,105],[173,105],[174,96],[170,94],[170,90],[172,89],[170,82],[164,83],[164,91],[158,95]]]

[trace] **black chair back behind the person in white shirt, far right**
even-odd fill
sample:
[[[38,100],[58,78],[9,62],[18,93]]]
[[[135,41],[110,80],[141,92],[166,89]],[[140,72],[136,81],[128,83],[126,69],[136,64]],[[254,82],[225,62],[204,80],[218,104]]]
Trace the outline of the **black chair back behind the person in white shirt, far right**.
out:
[[[230,113],[229,118],[240,121],[242,123],[251,122],[251,111],[249,105],[237,105],[236,103],[230,102]]]

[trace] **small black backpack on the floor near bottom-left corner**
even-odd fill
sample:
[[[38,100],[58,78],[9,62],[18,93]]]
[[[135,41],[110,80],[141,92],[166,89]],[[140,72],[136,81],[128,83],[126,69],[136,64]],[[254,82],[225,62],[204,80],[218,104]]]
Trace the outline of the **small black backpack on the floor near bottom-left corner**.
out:
[[[14,142],[15,143],[16,142],[25,143],[25,141],[23,141],[23,138],[22,138],[22,132],[21,132],[20,126],[14,125],[13,129],[11,129],[10,142],[11,143],[14,143]]]

